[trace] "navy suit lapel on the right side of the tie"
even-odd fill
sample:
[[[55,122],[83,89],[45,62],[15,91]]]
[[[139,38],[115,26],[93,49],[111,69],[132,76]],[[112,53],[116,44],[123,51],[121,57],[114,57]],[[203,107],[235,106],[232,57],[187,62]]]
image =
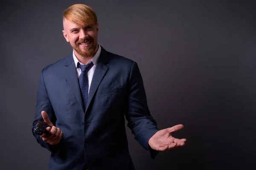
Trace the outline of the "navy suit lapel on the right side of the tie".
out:
[[[101,54],[99,56],[99,59],[98,59],[98,62],[96,64],[96,68],[95,68],[95,71],[93,74],[93,79],[92,79],[92,82],[90,85],[90,91],[88,94],[88,100],[87,100],[85,113],[93,99],[93,96],[94,96],[96,90],[99,87],[100,82],[102,81],[102,78],[105,76],[105,74],[108,70],[108,67],[105,65],[108,62],[108,57],[106,54],[107,54],[107,51],[104,48],[102,48]]]

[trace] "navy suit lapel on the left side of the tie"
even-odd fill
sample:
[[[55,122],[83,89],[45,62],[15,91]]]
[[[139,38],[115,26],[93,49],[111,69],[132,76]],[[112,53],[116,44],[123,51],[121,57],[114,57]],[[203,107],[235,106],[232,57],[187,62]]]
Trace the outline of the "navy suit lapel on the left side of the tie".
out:
[[[79,82],[76,74],[76,65],[73,59],[73,53],[67,56],[66,60],[64,61],[64,65],[65,65],[65,72],[67,75],[67,79],[70,83],[70,86],[76,95],[76,99],[78,100],[81,106],[81,109],[84,111],[82,97],[81,97],[80,88],[79,88]]]

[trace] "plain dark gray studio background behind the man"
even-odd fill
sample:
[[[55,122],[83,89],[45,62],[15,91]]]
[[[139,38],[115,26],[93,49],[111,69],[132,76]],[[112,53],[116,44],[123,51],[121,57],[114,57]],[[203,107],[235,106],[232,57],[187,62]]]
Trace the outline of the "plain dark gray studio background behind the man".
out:
[[[152,160],[128,131],[137,170],[255,169],[256,3],[253,0],[6,1],[0,10],[1,170],[46,170],[32,136],[42,68],[71,52],[61,15],[75,3],[98,16],[99,44],[136,61],[160,129],[184,147]]]

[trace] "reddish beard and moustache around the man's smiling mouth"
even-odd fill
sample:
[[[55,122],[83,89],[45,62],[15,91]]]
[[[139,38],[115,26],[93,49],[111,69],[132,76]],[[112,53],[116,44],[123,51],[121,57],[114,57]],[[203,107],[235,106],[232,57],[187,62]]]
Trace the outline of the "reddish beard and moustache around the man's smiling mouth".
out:
[[[79,48],[80,43],[86,43],[89,41],[90,41],[89,47],[84,47],[82,50],[81,50],[81,48]],[[92,57],[95,52],[95,49],[97,47],[97,44],[94,45],[93,42],[94,42],[93,38],[87,38],[86,40],[81,40],[79,42],[76,42],[76,46],[73,48],[77,52],[77,54],[79,54],[83,57]]]

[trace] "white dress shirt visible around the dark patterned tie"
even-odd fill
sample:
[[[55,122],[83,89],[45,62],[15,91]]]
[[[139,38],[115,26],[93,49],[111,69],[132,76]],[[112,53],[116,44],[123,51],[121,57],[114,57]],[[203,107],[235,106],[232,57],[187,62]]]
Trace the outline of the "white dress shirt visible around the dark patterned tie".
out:
[[[100,55],[100,52],[101,52],[101,47],[99,45],[99,48],[98,48],[98,51],[96,52],[96,54],[93,56],[93,58],[89,61],[89,62],[93,62],[93,67],[88,71],[87,75],[88,75],[88,80],[89,80],[89,86],[88,86],[88,93],[90,91],[90,85],[91,85],[91,82],[92,82],[92,79],[93,79],[93,74],[94,74],[94,71],[95,71],[95,68],[96,68],[96,65],[97,65],[97,62],[98,62],[98,59],[99,59],[99,55]],[[79,62],[78,59],[76,58],[76,55],[73,51],[73,59],[74,59],[74,62],[75,62],[75,65],[76,65],[76,74],[77,74],[77,78],[79,78],[80,74],[81,74],[81,68],[77,66],[77,63]],[[87,62],[87,64],[89,63]],[[81,62],[79,62],[81,65],[84,65],[82,64]]]

